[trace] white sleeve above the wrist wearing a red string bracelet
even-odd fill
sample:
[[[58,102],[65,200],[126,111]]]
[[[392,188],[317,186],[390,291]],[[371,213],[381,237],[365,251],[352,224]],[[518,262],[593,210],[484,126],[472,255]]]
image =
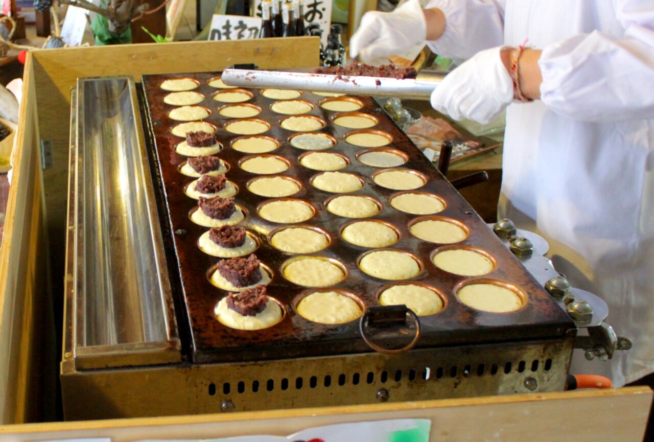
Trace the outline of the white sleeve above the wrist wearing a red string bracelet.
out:
[[[593,31],[543,49],[540,94],[554,112],[591,122],[654,118],[654,5],[613,3],[623,39]]]

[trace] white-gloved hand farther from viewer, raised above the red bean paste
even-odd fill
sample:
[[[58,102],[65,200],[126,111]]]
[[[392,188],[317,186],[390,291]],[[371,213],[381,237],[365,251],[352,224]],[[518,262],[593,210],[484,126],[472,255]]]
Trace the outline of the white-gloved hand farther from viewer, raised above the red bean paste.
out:
[[[393,12],[366,12],[350,39],[350,56],[361,61],[402,54],[424,42],[427,24],[419,0],[409,0]]]

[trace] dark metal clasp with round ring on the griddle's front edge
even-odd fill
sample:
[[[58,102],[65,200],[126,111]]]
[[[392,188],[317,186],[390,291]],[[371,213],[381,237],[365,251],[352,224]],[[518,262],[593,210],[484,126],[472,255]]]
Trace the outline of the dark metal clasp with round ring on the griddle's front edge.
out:
[[[368,347],[383,354],[400,354],[413,349],[420,337],[420,320],[406,305],[368,307],[359,320],[359,332]],[[389,348],[391,340],[411,336],[409,343],[400,348]],[[378,345],[375,341],[385,341]]]

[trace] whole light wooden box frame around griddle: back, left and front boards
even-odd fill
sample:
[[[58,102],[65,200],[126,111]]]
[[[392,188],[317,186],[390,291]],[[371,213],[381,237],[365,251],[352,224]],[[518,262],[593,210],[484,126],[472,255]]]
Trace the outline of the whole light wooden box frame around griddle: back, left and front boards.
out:
[[[147,438],[288,435],[310,426],[398,417],[432,419],[432,441],[506,442],[640,441],[652,392],[649,388],[587,390],[460,400],[385,403],[123,419],[25,424],[54,417],[57,367],[52,299],[63,290],[70,88],[78,76],[215,71],[233,63],[262,68],[318,63],[318,39],[188,42],[65,48],[27,57],[20,127],[5,233],[0,248],[0,442],[112,437]],[[208,55],[207,55],[208,54]],[[41,140],[52,143],[54,166],[41,170]],[[45,183],[45,185],[44,185]],[[46,217],[47,214],[47,217]],[[52,286],[50,284],[50,275]],[[48,371],[49,370],[49,371]],[[37,407],[36,405],[40,405]],[[217,411],[217,410],[216,410]]]

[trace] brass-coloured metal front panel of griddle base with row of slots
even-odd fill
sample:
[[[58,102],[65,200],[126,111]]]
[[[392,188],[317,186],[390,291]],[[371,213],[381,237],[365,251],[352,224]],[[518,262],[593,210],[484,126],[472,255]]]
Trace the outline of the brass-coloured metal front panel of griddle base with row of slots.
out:
[[[155,417],[377,403],[386,395],[400,402],[562,391],[573,342],[570,332],[565,339],[414,349],[400,356],[73,369],[61,378],[64,413],[67,420]]]

